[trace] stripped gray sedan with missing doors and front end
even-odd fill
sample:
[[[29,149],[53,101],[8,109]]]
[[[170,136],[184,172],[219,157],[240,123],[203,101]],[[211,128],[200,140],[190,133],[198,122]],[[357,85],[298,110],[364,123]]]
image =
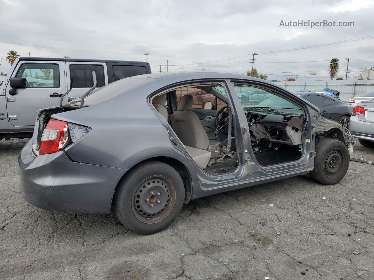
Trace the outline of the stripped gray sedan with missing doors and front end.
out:
[[[239,99],[249,91],[266,99]],[[151,234],[191,199],[307,173],[336,184],[349,143],[339,123],[265,80],[140,75],[38,111],[19,154],[21,192],[48,211],[114,211]]]

